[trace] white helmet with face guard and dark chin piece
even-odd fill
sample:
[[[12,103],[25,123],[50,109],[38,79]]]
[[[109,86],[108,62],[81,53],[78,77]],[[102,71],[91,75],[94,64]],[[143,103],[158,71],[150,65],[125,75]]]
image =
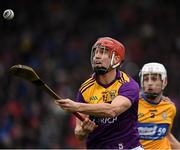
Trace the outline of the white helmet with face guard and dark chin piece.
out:
[[[141,69],[139,76],[140,76],[140,82],[141,87],[144,89],[144,75],[150,75],[150,74],[158,74],[160,75],[160,78],[162,80],[162,91],[167,85],[167,71],[165,67],[160,63],[147,63],[143,66]],[[160,93],[144,93],[147,98],[155,99],[157,96],[160,95]]]

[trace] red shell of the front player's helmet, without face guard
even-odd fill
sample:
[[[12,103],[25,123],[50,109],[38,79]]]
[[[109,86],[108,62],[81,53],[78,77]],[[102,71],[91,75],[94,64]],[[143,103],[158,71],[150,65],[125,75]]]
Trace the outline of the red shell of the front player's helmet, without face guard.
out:
[[[125,48],[124,48],[124,45],[120,43],[119,41],[112,39],[110,37],[102,37],[102,38],[99,38],[94,44],[94,46],[97,46],[97,45],[102,45],[104,47],[107,47],[111,54],[115,52],[115,55],[119,56],[121,58],[121,61],[124,60]]]

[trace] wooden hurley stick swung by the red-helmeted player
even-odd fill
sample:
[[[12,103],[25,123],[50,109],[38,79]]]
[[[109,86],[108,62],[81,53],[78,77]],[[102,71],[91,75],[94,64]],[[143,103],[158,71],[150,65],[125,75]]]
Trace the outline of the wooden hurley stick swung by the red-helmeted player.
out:
[[[40,77],[31,67],[25,65],[14,65],[10,68],[10,73],[17,77],[25,79],[26,81],[29,81],[38,87],[41,87],[54,99],[56,100],[61,99],[60,96],[58,96],[46,83],[44,83],[40,79]],[[84,121],[84,118],[79,113],[74,112],[73,114],[81,121]]]

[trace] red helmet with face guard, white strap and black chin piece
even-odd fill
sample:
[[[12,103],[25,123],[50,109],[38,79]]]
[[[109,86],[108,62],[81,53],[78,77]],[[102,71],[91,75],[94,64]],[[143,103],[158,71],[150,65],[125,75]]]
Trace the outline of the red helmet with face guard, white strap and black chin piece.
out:
[[[93,58],[95,56],[95,51],[98,48],[103,50],[103,55],[105,52],[107,52],[107,51],[109,52],[109,56],[110,56],[109,67],[107,67],[107,68],[105,68],[105,67],[94,67]],[[108,71],[112,70],[113,68],[118,67],[121,64],[121,62],[124,60],[124,55],[125,55],[125,48],[120,42],[116,41],[115,39],[109,38],[109,37],[99,38],[96,41],[96,43],[93,45],[92,50],[91,50],[92,68],[96,73],[105,74]],[[115,56],[118,56],[120,58],[118,63],[116,63],[116,64],[114,64]]]

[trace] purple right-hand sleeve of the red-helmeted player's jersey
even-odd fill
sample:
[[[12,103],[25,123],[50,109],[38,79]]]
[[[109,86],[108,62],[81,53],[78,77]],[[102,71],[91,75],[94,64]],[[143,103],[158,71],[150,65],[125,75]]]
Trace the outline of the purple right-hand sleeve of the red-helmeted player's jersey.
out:
[[[139,100],[139,85],[131,79],[130,82],[124,83],[124,85],[119,88],[118,94],[127,97],[131,103],[137,102]]]

